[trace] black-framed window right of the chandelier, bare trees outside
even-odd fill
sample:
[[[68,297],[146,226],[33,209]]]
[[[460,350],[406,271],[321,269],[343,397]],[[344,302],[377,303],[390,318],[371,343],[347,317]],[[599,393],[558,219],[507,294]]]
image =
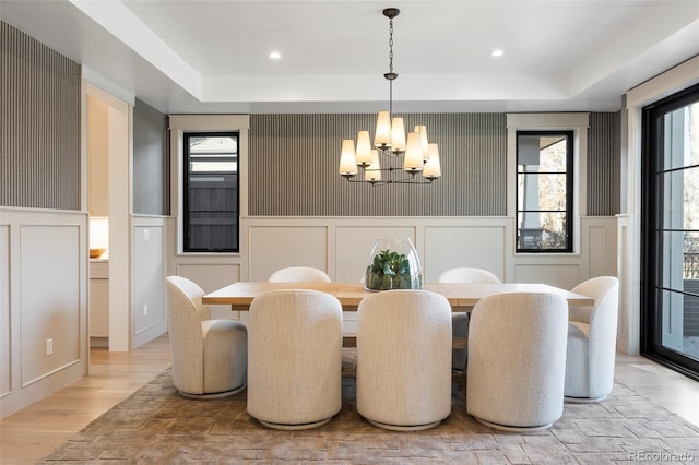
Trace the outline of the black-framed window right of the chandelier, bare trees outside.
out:
[[[573,131],[517,131],[517,251],[572,252]]]

